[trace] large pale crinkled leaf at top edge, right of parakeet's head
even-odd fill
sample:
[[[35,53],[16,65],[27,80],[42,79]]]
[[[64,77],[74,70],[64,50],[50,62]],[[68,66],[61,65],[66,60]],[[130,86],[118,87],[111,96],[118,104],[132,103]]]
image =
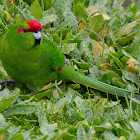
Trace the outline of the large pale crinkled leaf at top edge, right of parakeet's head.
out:
[[[63,31],[64,33],[67,30],[72,32],[77,32],[78,22],[71,11],[72,0],[55,0],[53,3],[55,10],[57,11],[57,20],[55,21],[55,33]]]

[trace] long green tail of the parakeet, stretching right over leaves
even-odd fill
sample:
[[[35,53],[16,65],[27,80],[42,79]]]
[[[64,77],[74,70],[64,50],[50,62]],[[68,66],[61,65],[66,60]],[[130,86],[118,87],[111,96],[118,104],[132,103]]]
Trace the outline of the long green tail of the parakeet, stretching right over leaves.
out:
[[[73,81],[103,92],[117,94],[119,96],[124,96],[126,94],[127,96],[131,97],[130,91],[91,79],[79,72],[76,72],[68,65],[63,66],[61,72],[59,72],[58,75],[62,80],[65,81]],[[140,99],[140,95],[135,94],[135,98]]]

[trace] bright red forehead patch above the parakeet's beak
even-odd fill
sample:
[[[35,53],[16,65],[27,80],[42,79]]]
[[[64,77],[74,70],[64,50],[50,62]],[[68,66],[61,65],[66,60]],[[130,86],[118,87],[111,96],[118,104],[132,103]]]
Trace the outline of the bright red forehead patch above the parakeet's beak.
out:
[[[29,25],[28,32],[35,32],[36,30],[42,30],[41,24],[36,20],[26,21],[25,24]]]

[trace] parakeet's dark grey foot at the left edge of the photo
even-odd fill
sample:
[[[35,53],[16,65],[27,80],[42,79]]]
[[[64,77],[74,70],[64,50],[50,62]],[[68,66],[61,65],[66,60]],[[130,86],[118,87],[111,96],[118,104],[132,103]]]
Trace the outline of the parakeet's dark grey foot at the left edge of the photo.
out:
[[[0,85],[1,85],[1,90],[3,90],[6,86],[7,87],[10,87],[11,89],[14,89],[15,88],[15,82],[12,81],[12,80],[7,80],[7,81],[3,81],[3,82],[0,82]]]

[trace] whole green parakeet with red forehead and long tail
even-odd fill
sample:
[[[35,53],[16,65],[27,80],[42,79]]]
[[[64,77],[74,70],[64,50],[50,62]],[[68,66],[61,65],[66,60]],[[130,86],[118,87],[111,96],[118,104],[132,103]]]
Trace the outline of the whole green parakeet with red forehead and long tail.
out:
[[[38,90],[56,79],[73,81],[103,92],[124,96],[131,92],[78,73],[65,64],[65,55],[41,33],[36,20],[10,25],[0,43],[0,59],[12,79]],[[135,94],[140,99],[140,95]]]

